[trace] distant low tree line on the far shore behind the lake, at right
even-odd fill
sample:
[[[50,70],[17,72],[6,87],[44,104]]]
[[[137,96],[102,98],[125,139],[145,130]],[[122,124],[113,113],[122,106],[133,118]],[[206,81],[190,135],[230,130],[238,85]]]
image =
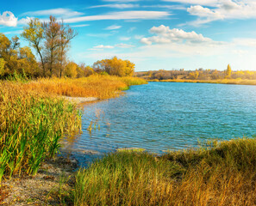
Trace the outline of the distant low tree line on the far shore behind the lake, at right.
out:
[[[256,79],[256,71],[232,71],[230,65],[226,70],[150,70],[136,72],[136,76],[148,80],[217,80],[217,79]]]

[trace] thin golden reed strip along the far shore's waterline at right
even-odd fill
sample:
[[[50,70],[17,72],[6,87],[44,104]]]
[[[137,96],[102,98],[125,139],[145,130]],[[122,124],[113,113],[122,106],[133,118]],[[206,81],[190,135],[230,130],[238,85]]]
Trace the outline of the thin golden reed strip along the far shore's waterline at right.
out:
[[[217,80],[147,80],[148,82],[191,82],[191,83],[218,83],[218,84],[240,84],[240,85],[256,85],[256,80],[243,79],[217,79]]]

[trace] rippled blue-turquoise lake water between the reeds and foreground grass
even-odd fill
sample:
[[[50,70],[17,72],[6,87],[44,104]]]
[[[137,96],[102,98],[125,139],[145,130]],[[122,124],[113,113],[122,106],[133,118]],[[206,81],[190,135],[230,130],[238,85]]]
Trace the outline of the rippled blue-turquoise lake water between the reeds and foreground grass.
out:
[[[116,148],[161,154],[195,148],[209,138],[255,134],[255,86],[149,82],[131,87],[120,98],[85,105],[83,134],[73,149],[80,158],[83,149],[97,155]]]

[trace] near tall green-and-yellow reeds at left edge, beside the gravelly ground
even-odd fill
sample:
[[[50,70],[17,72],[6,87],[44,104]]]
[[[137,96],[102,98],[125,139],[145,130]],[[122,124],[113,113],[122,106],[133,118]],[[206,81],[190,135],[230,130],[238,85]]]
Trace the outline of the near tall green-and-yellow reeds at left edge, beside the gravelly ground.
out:
[[[76,106],[21,85],[0,82],[0,181],[3,175],[35,174],[59,150],[59,138],[81,129]]]

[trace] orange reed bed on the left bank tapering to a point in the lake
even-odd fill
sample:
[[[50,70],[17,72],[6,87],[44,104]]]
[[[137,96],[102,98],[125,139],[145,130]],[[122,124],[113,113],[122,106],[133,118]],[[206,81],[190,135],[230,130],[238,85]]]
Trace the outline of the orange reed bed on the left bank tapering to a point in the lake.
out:
[[[58,94],[72,97],[97,97],[108,99],[116,97],[117,91],[128,89],[131,85],[147,83],[136,77],[93,75],[84,78],[51,78],[39,79],[22,84],[22,88],[35,92]]]

